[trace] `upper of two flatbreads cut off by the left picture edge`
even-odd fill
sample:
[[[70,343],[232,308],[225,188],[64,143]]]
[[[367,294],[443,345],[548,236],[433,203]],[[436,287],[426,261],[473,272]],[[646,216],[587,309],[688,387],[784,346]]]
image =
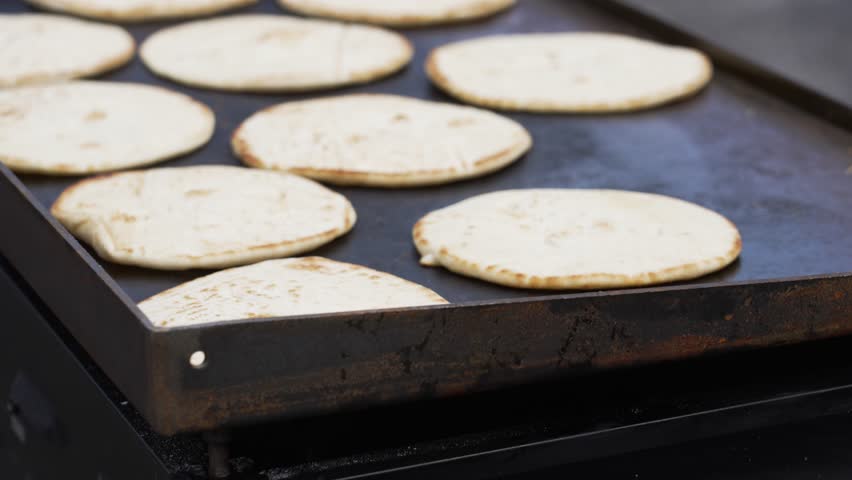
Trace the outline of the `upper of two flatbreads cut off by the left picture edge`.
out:
[[[88,77],[133,58],[124,29],[60,15],[0,15],[0,88]]]

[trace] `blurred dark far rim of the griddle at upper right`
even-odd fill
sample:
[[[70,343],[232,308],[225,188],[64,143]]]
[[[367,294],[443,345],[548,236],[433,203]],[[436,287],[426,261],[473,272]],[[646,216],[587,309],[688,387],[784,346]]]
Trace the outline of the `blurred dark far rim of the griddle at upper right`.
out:
[[[776,97],[846,130],[852,130],[852,104],[846,105],[823,95],[816,90],[786,78],[766,65],[760,65],[753,59],[723,48],[713,41],[695,34],[686,28],[680,28],[651,13],[647,7],[627,4],[621,0],[589,1],[597,8],[608,10],[620,18],[648,31],[663,40],[687,45],[702,50],[717,65],[770,92]]]

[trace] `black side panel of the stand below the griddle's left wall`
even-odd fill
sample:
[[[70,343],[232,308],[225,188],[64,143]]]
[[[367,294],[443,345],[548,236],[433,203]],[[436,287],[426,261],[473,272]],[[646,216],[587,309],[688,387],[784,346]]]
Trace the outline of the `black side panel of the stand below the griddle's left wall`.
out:
[[[0,476],[172,479],[22,287],[0,257]]]

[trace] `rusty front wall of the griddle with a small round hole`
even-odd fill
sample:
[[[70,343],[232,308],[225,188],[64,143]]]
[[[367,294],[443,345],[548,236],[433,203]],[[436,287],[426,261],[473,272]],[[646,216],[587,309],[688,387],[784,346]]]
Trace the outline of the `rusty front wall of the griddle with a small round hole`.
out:
[[[836,275],[163,330],[152,376],[170,395],[157,426],[178,431],[850,333],[852,275]]]

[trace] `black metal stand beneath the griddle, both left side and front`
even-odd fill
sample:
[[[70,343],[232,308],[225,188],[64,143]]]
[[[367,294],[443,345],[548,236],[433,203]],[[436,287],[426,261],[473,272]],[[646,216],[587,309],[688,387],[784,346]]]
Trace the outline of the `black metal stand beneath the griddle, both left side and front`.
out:
[[[0,399],[7,404],[0,451],[12,460],[11,471],[2,467],[9,476],[188,479],[203,476],[208,462],[228,465],[221,443],[228,436],[151,432],[2,257],[0,304],[0,321],[15,332],[0,338]],[[850,340],[266,423],[234,429],[231,449],[241,458],[239,478],[247,479],[265,479],[270,469],[288,478],[502,478],[848,412]],[[202,438],[213,440],[207,454]]]

